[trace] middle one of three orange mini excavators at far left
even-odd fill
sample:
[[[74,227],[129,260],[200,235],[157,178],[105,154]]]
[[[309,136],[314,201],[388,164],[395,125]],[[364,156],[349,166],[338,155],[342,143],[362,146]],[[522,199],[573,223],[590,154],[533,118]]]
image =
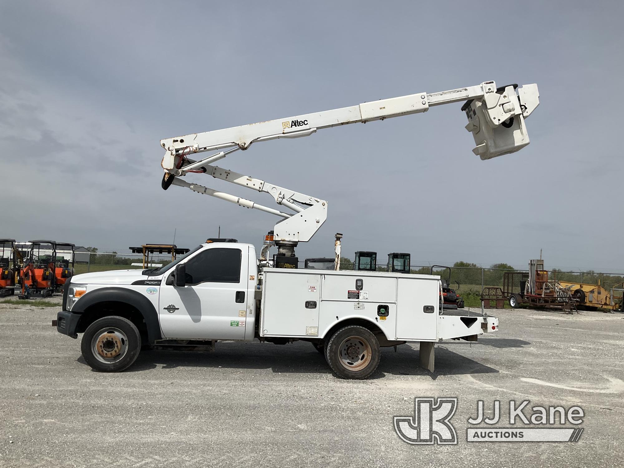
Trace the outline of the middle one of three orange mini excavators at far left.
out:
[[[54,241],[32,240],[24,264],[20,270],[20,299],[29,299],[32,295],[44,298],[52,296],[54,291]]]

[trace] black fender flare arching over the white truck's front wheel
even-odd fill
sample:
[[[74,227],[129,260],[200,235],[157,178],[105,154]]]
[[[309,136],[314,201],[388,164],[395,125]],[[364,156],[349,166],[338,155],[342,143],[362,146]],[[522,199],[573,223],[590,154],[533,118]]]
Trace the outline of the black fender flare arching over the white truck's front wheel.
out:
[[[72,312],[84,313],[91,306],[103,302],[122,302],[133,306],[145,320],[149,343],[154,344],[157,339],[162,339],[158,312],[148,298],[134,290],[110,287],[89,291],[76,301],[76,304],[72,307]]]

